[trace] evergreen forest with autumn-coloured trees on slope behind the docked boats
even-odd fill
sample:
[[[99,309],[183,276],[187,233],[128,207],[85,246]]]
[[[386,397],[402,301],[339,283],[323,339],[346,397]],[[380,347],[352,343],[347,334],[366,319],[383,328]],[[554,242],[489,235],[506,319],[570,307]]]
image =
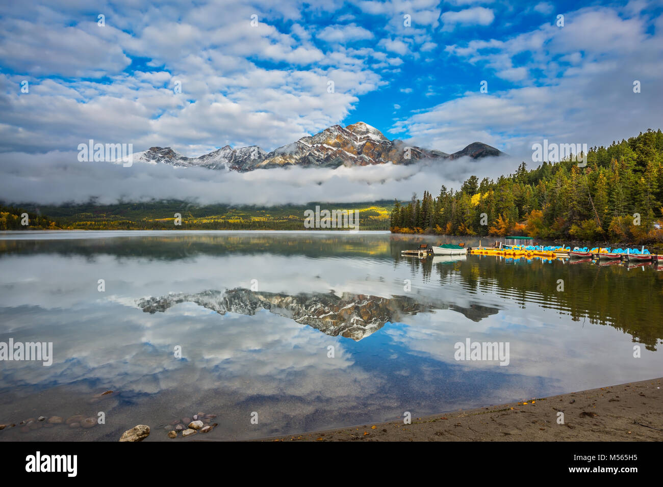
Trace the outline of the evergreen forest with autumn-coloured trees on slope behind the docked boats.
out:
[[[471,176],[459,191],[394,201],[392,233],[663,242],[663,133],[594,147],[586,166],[543,162],[497,181]]]

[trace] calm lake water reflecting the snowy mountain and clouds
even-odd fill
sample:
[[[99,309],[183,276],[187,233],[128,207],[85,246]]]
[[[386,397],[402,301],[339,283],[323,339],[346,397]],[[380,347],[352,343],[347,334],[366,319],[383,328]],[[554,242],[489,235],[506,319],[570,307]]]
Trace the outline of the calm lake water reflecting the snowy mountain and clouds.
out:
[[[0,342],[53,347],[50,366],[0,361],[0,424],[105,416],[0,440],[117,441],[147,424],[163,441],[198,411],[218,426],[192,439],[250,439],[663,375],[663,272],[400,254],[440,241],[0,233]],[[455,360],[466,339],[509,343],[509,364]]]

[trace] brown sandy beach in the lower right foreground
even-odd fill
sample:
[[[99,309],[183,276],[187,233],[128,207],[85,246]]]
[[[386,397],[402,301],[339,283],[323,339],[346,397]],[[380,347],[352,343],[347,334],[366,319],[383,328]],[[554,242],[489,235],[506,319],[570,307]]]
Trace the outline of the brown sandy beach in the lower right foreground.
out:
[[[663,377],[252,441],[662,441]],[[564,413],[564,423],[558,423]]]

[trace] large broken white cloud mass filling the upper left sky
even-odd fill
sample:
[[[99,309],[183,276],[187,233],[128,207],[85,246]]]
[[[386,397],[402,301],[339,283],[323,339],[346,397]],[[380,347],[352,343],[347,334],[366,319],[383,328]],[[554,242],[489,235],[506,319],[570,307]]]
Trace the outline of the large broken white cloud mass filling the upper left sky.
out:
[[[287,0],[196,9],[107,5],[99,27],[96,13],[69,3],[32,13],[7,5],[0,16],[0,63],[7,67],[0,74],[0,152],[67,151],[89,138],[137,150],[174,145],[193,156],[225,144],[271,150],[339,123],[358,95],[385,81],[370,66],[373,48],[324,52],[310,32],[330,39],[339,35],[335,28],[351,39],[373,34],[358,25],[325,30],[324,21],[301,22],[300,7]],[[322,15],[339,5],[315,8]],[[284,16],[300,21],[292,32],[276,27],[274,19]]]

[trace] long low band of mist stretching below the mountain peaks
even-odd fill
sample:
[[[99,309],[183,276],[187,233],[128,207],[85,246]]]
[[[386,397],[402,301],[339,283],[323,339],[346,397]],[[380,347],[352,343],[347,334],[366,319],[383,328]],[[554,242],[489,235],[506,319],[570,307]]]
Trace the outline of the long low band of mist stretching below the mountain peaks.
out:
[[[469,140],[468,140],[469,142]],[[201,204],[352,203],[399,197],[413,191],[459,188],[475,174],[497,178],[520,163],[510,158],[434,160],[410,166],[377,164],[337,169],[265,169],[247,173],[178,169],[134,162],[78,162],[74,152],[8,153],[0,160],[0,195],[7,203],[58,204],[185,199]],[[260,188],[257,191],[257,188]]]

